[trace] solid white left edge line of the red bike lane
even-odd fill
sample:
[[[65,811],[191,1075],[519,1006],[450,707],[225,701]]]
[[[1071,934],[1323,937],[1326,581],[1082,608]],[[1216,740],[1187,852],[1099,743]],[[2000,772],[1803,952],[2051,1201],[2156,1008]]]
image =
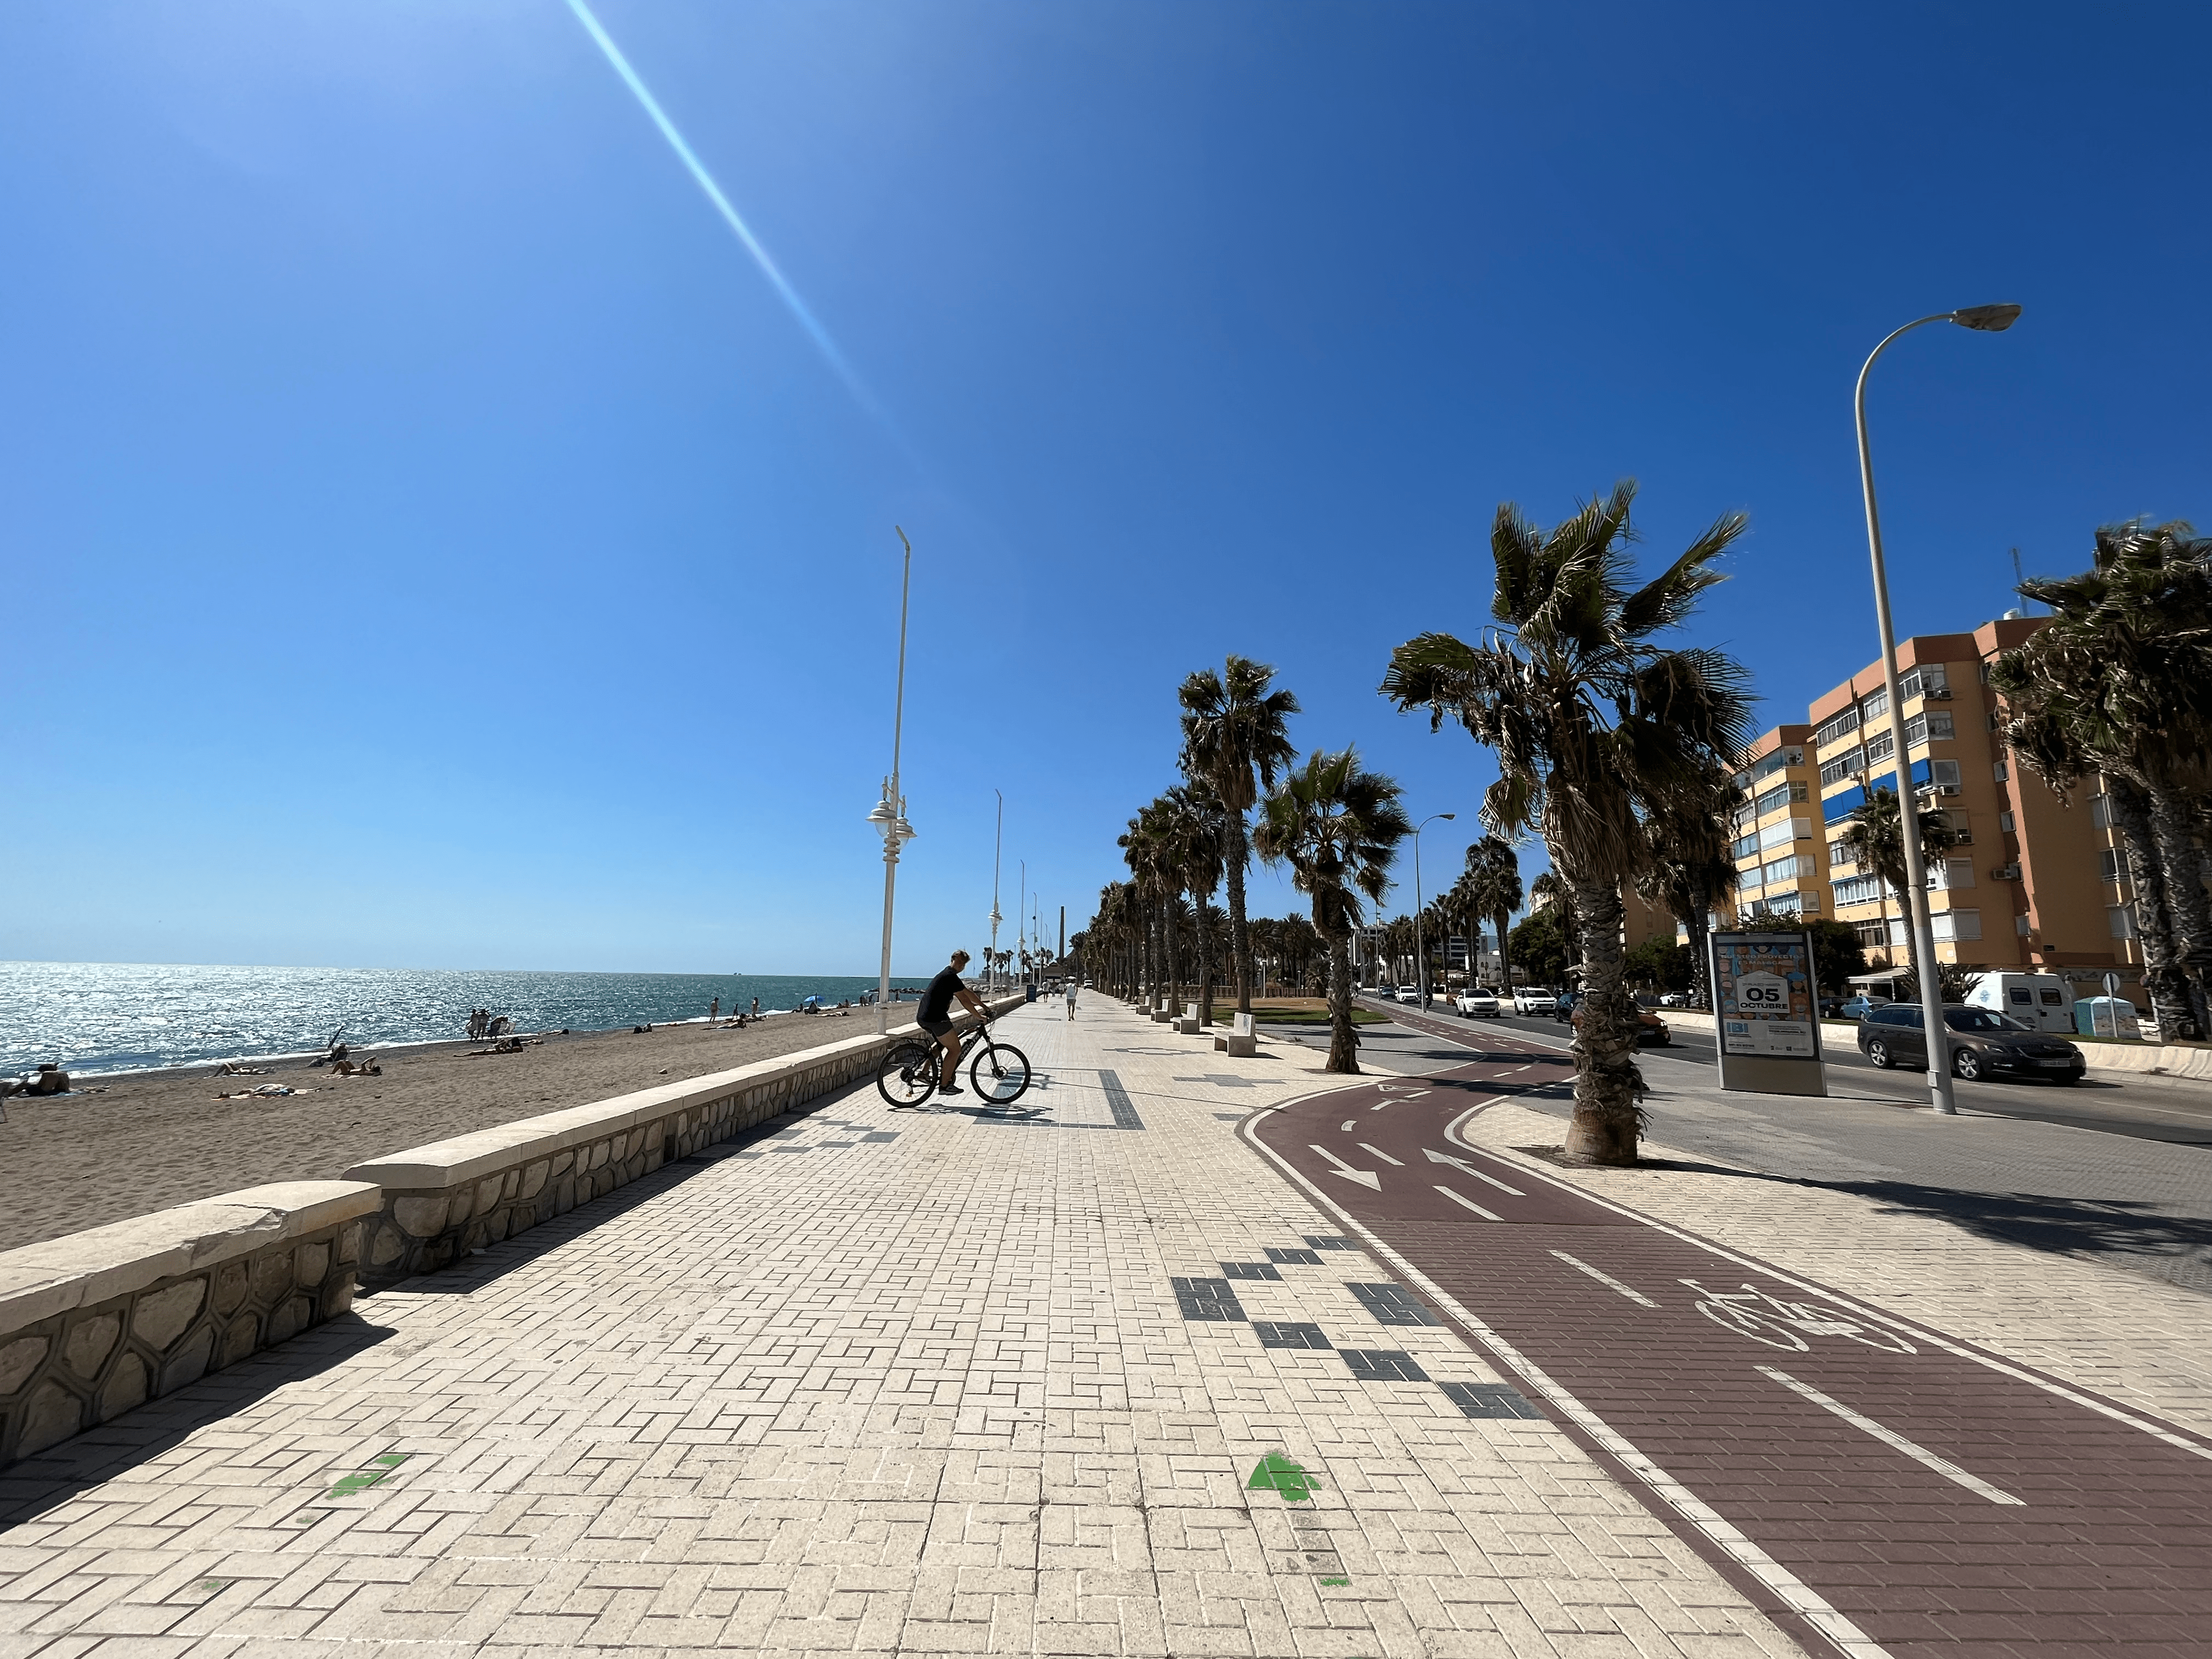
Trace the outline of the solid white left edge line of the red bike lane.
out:
[[[1296,1102],[1283,1102],[1283,1104],[1290,1106]],[[1460,1323],[1462,1329],[1471,1332],[1475,1343],[1480,1343],[1484,1349],[1504,1360],[1511,1369],[1528,1378],[1528,1385],[1537,1394],[1542,1394],[1546,1400],[1559,1407],[1559,1413],[1568,1418],[1586,1436],[1590,1436],[1590,1440],[1595,1440],[1608,1453],[1619,1458],[1621,1467],[1626,1467],[1637,1480],[1641,1480],[1644,1486],[1655,1498],[1659,1498],[1659,1502],[1668,1504],[1677,1515],[1697,1526],[1697,1531],[1701,1531],[1721,1551],[1725,1551],[1728,1557],[1736,1562],[1736,1566],[1741,1566],[1745,1573],[1765,1584],[1767,1590],[1781,1597],[1783,1606],[1787,1606],[1792,1613],[1805,1619],[1823,1637],[1834,1641],[1845,1655],[1849,1655],[1849,1659],[1891,1659],[1889,1648],[1885,1648],[1865,1630],[1860,1630],[1856,1624],[1851,1624],[1851,1619],[1838,1613],[1834,1604],[1829,1604],[1827,1597],[1823,1597],[1818,1590],[1805,1584],[1805,1579],[1801,1579],[1787,1566],[1783,1566],[1763,1548],[1759,1548],[1759,1544],[1752,1542],[1741,1526],[1736,1526],[1721,1511],[1717,1511],[1694,1491],[1674,1480],[1674,1475],[1670,1475],[1666,1469],[1652,1462],[1650,1455],[1639,1451],[1637,1444],[1628,1440],[1619,1429],[1615,1429],[1601,1416],[1590,1411],[1590,1407],[1586,1407],[1582,1400],[1577,1400],[1573,1394],[1559,1387],[1544,1371],[1544,1367],[1540,1367],[1535,1360],[1531,1360],[1526,1354],[1513,1347],[1513,1343],[1509,1343],[1504,1334],[1480,1321],[1467,1303],[1462,1303],[1449,1290],[1429,1279],[1429,1274],[1425,1274],[1402,1254],[1383,1243],[1383,1239],[1378,1239],[1371,1228],[1360,1223],[1356,1217],[1343,1210],[1336,1203],[1336,1199],[1332,1199],[1327,1192],[1314,1186],[1305,1175],[1301,1175],[1298,1168],[1287,1157],[1276,1152],[1272,1146],[1267,1146],[1267,1141],[1259,1137],[1256,1126],[1265,1121],[1265,1117],[1267,1117],[1265,1113],[1248,1117],[1243,1124],[1237,1126],[1237,1135],[1241,1135],[1248,1146],[1256,1148],[1261,1157],[1265,1157],[1270,1164],[1283,1170],[1283,1175],[1290,1181],[1305,1188],[1312,1194],[1314,1203],[1334,1214],[1336,1223],[1349,1237],[1360,1239],[1367,1245],[1367,1254],[1371,1254],[1376,1261],[1387,1261],[1391,1267],[1396,1267],[1398,1274],[1413,1290],[1427,1296],[1433,1307],[1442,1307]],[[1453,1128],[1458,1128],[1458,1124],[1464,1121],[1467,1115],[1462,1113],[1458,1119],[1453,1119]],[[1566,1188],[1568,1192],[1577,1190],[1566,1181],[1557,1181],[1557,1186]],[[1630,1212],[1624,1210],[1624,1214]],[[1770,1270],[1761,1267],[1761,1272]],[[1807,1290],[1812,1287],[1807,1285]]]

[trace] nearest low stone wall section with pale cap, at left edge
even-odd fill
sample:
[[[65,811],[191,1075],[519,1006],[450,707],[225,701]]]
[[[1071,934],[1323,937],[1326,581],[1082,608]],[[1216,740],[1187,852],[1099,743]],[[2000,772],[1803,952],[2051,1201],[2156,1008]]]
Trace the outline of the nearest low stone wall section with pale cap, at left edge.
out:
[[[361,1181],[279,1181],[0,1254],[0,1464],[354,1303]]]

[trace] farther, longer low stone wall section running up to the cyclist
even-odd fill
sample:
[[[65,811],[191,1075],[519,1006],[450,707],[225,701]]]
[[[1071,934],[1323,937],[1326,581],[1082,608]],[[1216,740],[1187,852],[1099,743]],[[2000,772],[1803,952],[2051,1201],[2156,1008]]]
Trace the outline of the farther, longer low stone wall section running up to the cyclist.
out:
[[[1004,998],[995,1009],[1020,1002]],[[914,1024],[902,1024],[883,1037],[845,1037],[356,1164],[345,1177],[374,1181],[385,1194],[363,1243],[363,1287],[447,1267],[670,1159],[874,1077],[885,1051],[911,1035]]]

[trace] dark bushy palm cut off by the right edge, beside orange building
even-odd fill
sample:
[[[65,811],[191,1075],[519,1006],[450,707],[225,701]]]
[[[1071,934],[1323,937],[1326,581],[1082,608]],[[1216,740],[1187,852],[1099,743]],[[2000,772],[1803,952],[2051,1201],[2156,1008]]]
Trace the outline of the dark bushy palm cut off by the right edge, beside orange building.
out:
[[[2212,540],[2190,524],[2106,524],[2090,568],[2020,593],[2051,622],[1997,657],[2006,741],[2062,794],[2093,772],[2126,843],[2143,982],[2161,1031],[2212,1029]]]

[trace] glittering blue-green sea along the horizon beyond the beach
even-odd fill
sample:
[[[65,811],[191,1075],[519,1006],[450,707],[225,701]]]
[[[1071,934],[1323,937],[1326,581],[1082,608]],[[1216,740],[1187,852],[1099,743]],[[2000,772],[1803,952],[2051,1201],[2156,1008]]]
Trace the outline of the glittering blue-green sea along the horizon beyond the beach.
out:
[[[920,980],[891,980],[918,991]],[[58,1062],[71,1073],[458,1042],[469,1011],[518,1031],[615,1031],[721,1011],[790,1013],[874,991],[860,973],[522,973],[500,969],[166,967],[0,962],[0,1075]]]

